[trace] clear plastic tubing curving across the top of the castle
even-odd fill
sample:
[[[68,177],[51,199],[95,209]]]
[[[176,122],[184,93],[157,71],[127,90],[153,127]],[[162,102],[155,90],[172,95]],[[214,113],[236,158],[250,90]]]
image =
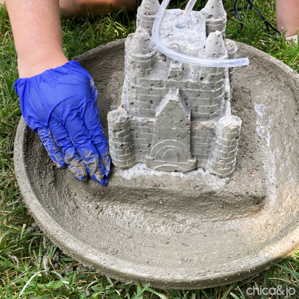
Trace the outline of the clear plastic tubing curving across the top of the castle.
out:
[[[178,52],[173,51],[172,49],[167,48],[165,45],[163,45],[159,39],[159,28],[161,24],[161,20],[163,18],[164,12],[167,8],[167,5],[169,4],[170,0],[163,0],[153,26],[152,31],[152,40],[153,43],[156,45],[157,49],[166,55],[167,57],[170,57],[171,59],[181,61],[184,63],[190,63],[190,64],[196,64],[201,66],[208,66],[208,67],[235,67],[235,66],[244,66],[249,64],[248,58],[236,58],[236,59],[212,59],[212,58],[202,58],[202,57],[196,57],[196,56],[190,56],[181,54]],[[196,0],[189,0],[186,9],[188,8],[188,12],[184,12],[186,14],[186,19],[191,13],[191,10],[193,6],[190,4],[190,2],[196,2]],[[189,5],[190,4],[190,5]],[[191,9],[190,9],[191,7]],[[181,20],[181,19],[180,19]],[[179,21],[180,21],[179,20]],[[188,28],[186,29],[188,30]]]

